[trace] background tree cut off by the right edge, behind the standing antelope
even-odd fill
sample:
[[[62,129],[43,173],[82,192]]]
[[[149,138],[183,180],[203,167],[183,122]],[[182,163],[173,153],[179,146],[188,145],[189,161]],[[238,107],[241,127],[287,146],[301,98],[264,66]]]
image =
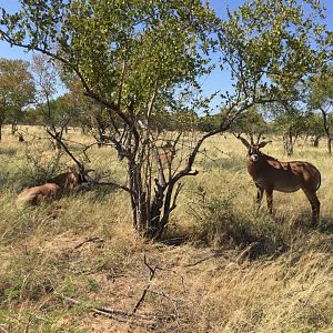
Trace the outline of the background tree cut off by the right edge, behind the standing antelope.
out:
[[[310,108],[320,110],[322,125],[327,139],[327,152],[332,154],[333,124],[333,67],[310,80]]]

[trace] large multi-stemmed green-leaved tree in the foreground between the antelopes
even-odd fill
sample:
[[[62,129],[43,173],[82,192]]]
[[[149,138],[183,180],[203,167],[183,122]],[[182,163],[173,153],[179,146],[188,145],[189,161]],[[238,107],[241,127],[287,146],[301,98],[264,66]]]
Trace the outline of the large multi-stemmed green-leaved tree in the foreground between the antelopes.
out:
[[[3,12],[3,40],[62,62],[84,94],[105,108],[107,140],[128,162],[128,184],[114,185],[129,193],[134,228],[153,239],[168,226],[180,181],[198,173],[193,164],[204,140],[252,105],[287,98],[286,85],[313,72],[326,54],[322,31],[312,26],[312,16],[321,14],[317,1],[306,1],[309,17],[295,1],[255,0],[226,21],[200,0],[21,3],[20,13]],[[205,108],[206,98],[193,92],[202,95],[199,78],[212,70],[213,49],[232,71],[235,92],[224,95],[219,127],[198,139],[186,160],[172,155],[164,169],[153,123],[163,118],[155,115]],[[169,140],[171,151],[181,135]]]

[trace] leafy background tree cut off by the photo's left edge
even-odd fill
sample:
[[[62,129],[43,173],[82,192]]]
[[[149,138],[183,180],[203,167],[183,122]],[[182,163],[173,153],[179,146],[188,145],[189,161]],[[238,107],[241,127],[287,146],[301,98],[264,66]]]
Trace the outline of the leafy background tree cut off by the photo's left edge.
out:
[[[4,121],[10,121],[14,131],[23,108],[33,102],[34,84],[28,68],[23,60],[0,59],[0,141]]]

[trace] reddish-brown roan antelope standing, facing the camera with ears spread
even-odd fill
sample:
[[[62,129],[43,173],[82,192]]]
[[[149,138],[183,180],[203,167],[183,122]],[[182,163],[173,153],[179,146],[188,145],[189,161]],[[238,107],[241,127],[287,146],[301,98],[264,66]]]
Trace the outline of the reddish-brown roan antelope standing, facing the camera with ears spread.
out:
[[[262,141],[254,144],[251,138],[251,144],[242,137],[238,138],[248,148],[246,165],[256,188],[256,202],[260,208],[263,192],[266,192],[268,208],[273,212],[273,191],[285,193],[303,190],[312,208],[312,223],[319,223],[320,201],[316,191],[321,185],[321,173],[311,163],[303,161],[280,162],[260,151],[272,141]]]

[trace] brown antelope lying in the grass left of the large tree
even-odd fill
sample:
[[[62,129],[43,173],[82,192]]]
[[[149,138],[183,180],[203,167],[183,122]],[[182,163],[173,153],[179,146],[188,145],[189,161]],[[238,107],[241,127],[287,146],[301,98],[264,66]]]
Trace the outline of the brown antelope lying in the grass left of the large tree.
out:
[[[84,182],[88,182],[85,176],[75,171],[61,173],[49,179],[43,185],[23,190],[17,198],[17,205],[38,205],[58,200]]]

